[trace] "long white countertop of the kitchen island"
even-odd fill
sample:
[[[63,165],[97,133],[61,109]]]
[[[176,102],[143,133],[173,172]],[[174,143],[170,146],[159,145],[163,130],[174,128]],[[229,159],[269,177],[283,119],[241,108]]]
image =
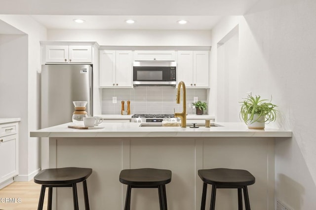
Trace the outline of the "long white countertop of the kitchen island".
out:
[[[292,137],[292,131],[266,128],[248,129],[244,123],[215,123],[221,127],[140,127],[141,123],[104,122],[102,129],[72,129],[61,124],[37,131],[31,131],[31,137]]]

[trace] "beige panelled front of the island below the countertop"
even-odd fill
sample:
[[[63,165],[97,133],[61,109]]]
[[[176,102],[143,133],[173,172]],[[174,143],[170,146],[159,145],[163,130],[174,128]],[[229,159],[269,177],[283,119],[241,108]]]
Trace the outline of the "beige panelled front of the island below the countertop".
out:
[[[166,185],[170,210],[199,210],[202,181],[197,170],[245,169],[256,177],[248,187],[250,205],[273,210],[275,138],[50,138],[50,168],[86,167],[90,209],[123,210],[126,185],[119,182],[122,169],[158,168],[172,171]],[[78,184],[83,206],[82,184]],[[206,208],[209,208],[208,186]],[[73,207],[71,188],[57,190],[57,209]],[[56,200],[54,200],[56,208]],[[216,208],[237,210],[237,189],[218,189]],[[131,209],[159,210],[157,189],[133,189]]]

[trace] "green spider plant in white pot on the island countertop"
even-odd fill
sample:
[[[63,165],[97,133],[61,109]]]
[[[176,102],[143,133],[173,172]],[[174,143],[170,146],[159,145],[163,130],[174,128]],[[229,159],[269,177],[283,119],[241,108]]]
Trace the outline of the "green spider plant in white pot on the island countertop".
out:
[[[239,117],[250,129],[264,129],[265,124],[276,121],[276,105],[271,100],[260,99],[260,96],[250,96],[241,103]]]

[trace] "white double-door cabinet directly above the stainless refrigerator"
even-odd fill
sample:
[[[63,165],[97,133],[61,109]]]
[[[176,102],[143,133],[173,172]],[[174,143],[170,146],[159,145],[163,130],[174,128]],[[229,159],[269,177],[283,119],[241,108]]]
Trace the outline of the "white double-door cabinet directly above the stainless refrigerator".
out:
[[[45,45],[44,63],[92,63],[92,46]]]

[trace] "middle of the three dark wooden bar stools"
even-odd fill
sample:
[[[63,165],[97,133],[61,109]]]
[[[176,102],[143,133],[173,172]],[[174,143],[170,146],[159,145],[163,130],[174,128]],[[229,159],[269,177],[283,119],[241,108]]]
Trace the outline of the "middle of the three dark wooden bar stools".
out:
[[[132,188],[158,188],[160,210],[167,210],[165,184],[171,181],[171,171],[163,169],[126,169],[119,174],[119,181],[127,184],[124,210],[130,210]]]

